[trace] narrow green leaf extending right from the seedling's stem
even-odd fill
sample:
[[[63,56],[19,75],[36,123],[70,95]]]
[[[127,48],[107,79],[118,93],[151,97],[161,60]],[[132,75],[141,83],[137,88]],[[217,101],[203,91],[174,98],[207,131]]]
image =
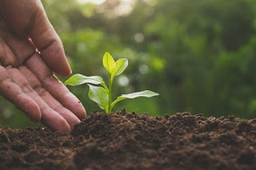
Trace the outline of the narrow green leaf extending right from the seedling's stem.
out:
[[[137,97],[154,97],[158,96],[158,93],[154,93],[150,90],[145,90],[142,92],[135,92],[135,93],[130,93],[130,94],[122,94],[120,97],[118,97],[113,103],[111,104],[111,107],[113,107],[118,101],[122,101],[124,99],[133,99]]]

